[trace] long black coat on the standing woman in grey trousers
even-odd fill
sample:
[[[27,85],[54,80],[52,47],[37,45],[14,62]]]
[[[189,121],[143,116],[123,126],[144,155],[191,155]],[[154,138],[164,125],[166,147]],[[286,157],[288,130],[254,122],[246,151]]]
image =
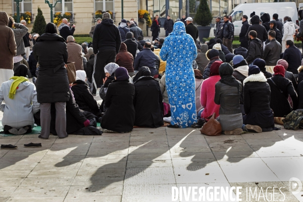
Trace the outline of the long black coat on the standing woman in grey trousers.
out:
[[[68,58],[64,38],[58,34],[42,34],[37,38],[33,54],[39,63],[38,103],[67,102],[70,88],[64,67]]]

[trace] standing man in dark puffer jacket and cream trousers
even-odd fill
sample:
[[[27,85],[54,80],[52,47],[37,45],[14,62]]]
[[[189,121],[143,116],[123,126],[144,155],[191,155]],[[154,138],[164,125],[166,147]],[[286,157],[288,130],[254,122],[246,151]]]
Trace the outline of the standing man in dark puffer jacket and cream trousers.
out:
[[[268,39],[270,42],[265,45],[263,56],[263,60],[266,62],[266,71],[272,74],[274,73],[274,67],[277,65],[278,60],[280,60],[280,54],[282,51],[282,46],[275,37],[275,31],[268,32]]]

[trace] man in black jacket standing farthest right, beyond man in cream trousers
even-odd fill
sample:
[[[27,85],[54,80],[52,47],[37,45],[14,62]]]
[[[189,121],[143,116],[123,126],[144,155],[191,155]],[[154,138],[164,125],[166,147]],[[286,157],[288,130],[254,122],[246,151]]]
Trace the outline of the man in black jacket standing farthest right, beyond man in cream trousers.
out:
[[[300,50],[294,46],[292,40],[286,41],[286,49],[283,54],[283,59],[288,63],[287,71],[293,73],[293,76],[297,78],[297,69],[299,66],[301,66],[302,54]]]

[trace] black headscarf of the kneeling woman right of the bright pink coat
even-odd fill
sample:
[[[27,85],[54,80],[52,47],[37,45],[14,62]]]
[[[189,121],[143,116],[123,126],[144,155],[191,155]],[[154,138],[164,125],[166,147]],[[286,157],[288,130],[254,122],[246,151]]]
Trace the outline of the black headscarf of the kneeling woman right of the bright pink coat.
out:
[[[239,90],[239,82],[236,80],[235,77],[232,76],[233,68],[228,63],[223,63],[219,67],[219,74],[221,76],[221,79],[219,80],[221,83],[224,83],[225,85],[230,85],[237,87]]]

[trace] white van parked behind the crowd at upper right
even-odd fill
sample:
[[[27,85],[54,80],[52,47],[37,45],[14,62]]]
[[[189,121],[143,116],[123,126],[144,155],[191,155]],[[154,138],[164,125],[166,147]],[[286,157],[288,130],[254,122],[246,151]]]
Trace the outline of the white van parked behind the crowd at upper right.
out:
[[[252,12],[260,16],[261,12],[268,13],[272,19],[273,14],[277,13],[282,22],[285,16],[289,16],[294,23],[298,23],[297,8],[294,2],[283,3],[255,3],[255,4],[239,4],[236,6],[228,16],[232,16],[232,22],[235,26],[234,35],[238,36],[242,27],[242,16],[249,16]]]

